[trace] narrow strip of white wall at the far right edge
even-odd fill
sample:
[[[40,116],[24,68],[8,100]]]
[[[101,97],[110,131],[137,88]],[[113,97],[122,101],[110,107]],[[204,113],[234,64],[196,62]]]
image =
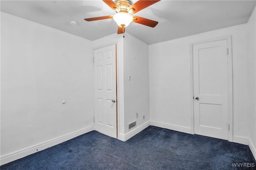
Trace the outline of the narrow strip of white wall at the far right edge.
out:
[[[248,65],[247,65],[247,74],[248,74],[248,88],[247,88],[247,107],[248,107],[248,126],[249,126],[249,139],[251,142],[251,145],[254,148],[254,156],[255,155],[255,148],[256,148],[256,100],[255,100],[255,95],[256,95],[256,69],[255,69],[255,58],[256,58],[256,13],[255,9],[252,12],[252,15],[250,19],[248,20],[247,23],[247,53],[248,53]]]

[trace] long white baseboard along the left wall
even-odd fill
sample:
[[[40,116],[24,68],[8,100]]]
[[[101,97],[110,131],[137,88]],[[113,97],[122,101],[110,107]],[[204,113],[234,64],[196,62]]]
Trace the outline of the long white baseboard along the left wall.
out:
[[[80,129],[78,131],[69,133],[67,135],[63,135],[61,137],[52,139],[50,141],[46,141],[44,143],[40,143],[40,144],[34,145],[32,147],[28,147],[26,149],[22,149],[22,150],[19,150],[19,151],[10,153],[10,154],[6,154],[4,156],[1,156],[1,158],[0,158],[1,163],[0,164],[1,165],[7,164],[9,162],[12,162],[14,160],[23,158],[23,157],[28,156],[30,154],[39,152],[39,151],[47,149],[49,147],[53,147],[54,145],[58,145],[62,142],[68,141],[72,138],[78,137],[78,136],[83,135],[84,133],[88,133],[90,131],[93,131],[93,126],[86,127],[84,129]]]

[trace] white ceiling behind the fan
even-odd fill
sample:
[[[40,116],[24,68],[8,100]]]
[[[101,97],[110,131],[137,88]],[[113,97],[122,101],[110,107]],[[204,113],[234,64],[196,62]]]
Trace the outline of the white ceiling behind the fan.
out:
[[[161,0],[135,14],[158,21],[156,27],[130,23],[126,32],[147,44],[168,41],[246,23],[255,4],[255,0]],[[2,12],[89,40],[117,32],[113,19],[84,21],[84,18],[115,14],[102,0],[1,0],[0,5]],[[77,25],[70,25],[71,20]]]

